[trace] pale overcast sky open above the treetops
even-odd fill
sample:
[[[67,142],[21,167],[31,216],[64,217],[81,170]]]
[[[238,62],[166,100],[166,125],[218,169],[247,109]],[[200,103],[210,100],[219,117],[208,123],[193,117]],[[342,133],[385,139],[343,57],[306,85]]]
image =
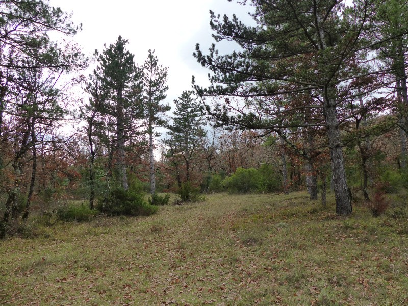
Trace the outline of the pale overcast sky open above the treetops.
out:
[[[104,49],[104,43],[114,43],[118,36],[129,39],[127,49],[141,65],[149,49],[155,49],[159,62],[169,67],[167,102],[191,89],[191,77],[206,85],[209,70],[193,58],[195,44],[207,50],[214,39],[211,36],[210,14],[232,16],[235,13],[248,22],[249,6],[227,0],[156,0],[156,1],[97,1],[50,0],[50,5],[72,12],[72,21],[82,23],[83,30],[73,40],[84,53],[92,55],[95,49]],[[222,46],[225,49],[225,45]],[[231,45],[228,48],[235,48]]]

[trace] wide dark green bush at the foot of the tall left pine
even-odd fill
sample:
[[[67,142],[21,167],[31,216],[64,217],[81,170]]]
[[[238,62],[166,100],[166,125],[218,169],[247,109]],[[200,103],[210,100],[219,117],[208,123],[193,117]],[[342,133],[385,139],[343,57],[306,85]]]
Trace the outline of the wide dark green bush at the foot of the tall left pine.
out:
[[[96,208],[111,216],[148,216],[158,210],[157,206],[146,202],[143,194],[123,188],[112,190],[104,199],[98,201]]]

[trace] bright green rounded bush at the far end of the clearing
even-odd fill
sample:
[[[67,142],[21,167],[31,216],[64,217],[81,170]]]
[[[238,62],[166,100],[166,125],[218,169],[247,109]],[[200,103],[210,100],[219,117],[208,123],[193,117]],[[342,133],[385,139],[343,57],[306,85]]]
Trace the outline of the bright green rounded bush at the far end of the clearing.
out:
[[[259,191],[261,181],[262,176],[257,169],[238,168],[235,173],[223,181],[223,184],[230,193],[248,193]]]

